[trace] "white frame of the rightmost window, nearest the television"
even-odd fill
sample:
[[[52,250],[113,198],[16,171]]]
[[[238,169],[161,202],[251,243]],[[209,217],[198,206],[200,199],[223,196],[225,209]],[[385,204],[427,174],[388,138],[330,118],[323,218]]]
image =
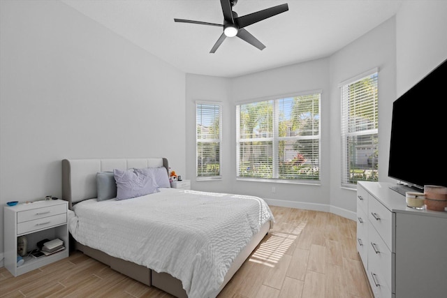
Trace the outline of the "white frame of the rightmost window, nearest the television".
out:
[[[357,82],[360,82],[362,80],[367,79],[367,77],[371,77],[372,75],[376,76],[376,79],[374,79],[376,82],[376,101],[372,104],[372,107],[376,109],[376,122],[373,122],[374,128],[364,129],[364,130],[358,130],[355,129],[355,131],[350,132],[349,131],[349,124],[351,122],[349,121],[349,103],[346,100],[349,100],[349,96],[345,97],[345,90],[349,88],[350,85],[356,84]],[[341,137],[341,177],[340,177],[340,185],[342,188],[349,188],[349,189],[356,189],[357,188],[357,181],[379,181],[379,164],[377,163],[376,169],[372,169],[372,171],[376,174],[377,180],[372,179],[362,179],[362,178],[356,178],[351,179],[351,166],[349,162],[351,160],[349,159],[349,146],[353,147],[352,142],[348,142],[347,138],[349,137],[367,137],[371,136],[372,139],[376,140],[376,143],[370,145],[370,147],[375,147],[373,150],[372,156],[375,158],[379,158],[379,68],[372,68],[370,70],[365,71],[364,73],[360,73],[359,75],[356,75],[355,77],[351,77],[348,80],[345,80],[344,82],[341,82],[339,84],[340,89],[340,137]],[[369,126],[371,123],[367,123],[367,126]],[[356,124],[356,128],[360,128],[361,126],[365,126],[365,123],[358,123]],[[374,167],[374,163],[373,163]],[[366,169],[365,170],[369,170]],[[366,172],[365,172],[366,174]],[[355,183],[350,183],[351,180],[354,180]]]

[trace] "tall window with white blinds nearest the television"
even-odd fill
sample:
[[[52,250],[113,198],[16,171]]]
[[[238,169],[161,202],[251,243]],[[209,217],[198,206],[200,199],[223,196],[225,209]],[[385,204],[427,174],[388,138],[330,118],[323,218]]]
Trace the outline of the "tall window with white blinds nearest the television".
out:
[[[342,186],[379,181],[377,69],[342,83]]]

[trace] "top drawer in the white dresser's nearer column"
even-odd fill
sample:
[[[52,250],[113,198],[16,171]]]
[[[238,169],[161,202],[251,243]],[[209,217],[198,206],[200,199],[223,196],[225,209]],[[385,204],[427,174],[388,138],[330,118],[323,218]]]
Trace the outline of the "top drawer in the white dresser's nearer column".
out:
[[[369,221],[374,225],[383,241],[385,241],[388,249],[392,251],[393,213],[372,196],[369,197],[368,209]]]

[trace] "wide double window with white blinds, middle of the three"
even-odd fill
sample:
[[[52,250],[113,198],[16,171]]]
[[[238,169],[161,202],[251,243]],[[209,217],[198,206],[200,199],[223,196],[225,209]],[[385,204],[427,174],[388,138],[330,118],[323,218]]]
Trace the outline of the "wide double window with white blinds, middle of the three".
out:
[[[237,105],[237,177],[318,182],[320,97]]]

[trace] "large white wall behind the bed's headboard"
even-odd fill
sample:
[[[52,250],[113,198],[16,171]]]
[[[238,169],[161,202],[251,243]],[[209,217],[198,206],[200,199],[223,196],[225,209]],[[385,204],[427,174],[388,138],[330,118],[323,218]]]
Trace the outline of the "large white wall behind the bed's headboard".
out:
[[[185,171],[184,73],[59,1],[0,5],[2,207],[61,198],[63,158],[163,156]]]

